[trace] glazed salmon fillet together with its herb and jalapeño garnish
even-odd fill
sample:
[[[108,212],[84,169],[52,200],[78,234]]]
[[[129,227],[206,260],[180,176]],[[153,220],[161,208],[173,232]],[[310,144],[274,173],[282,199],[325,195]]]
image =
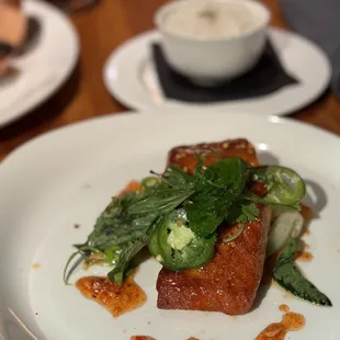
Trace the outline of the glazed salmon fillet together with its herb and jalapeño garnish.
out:
[[[75,246],[66,282],[77,256],[87,265],[110,265],[103,284],[88,285],[84,295],[113,313],[116,299],[103,286],[112,285],[111,297],[124,293],[133,260],[148,248],[162,264],[159,308],[240,315],[253,306],[265,258],[277,253],[272,275],[283,288],[331,306],[294,261],[310,218],[307,207],[301,211],[305,184],[295,171],[260,165],[248,140],[234,139],[173,148],[165,172],[151,174],[112,199],[88,240]],[[99,279],[77,286],[87,280]]]

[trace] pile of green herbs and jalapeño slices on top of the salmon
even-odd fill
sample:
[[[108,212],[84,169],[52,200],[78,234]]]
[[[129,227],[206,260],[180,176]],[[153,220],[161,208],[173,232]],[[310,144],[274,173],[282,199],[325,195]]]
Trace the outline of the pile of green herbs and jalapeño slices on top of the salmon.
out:
[[[251,191],[258,181],[265,184],[264,196]],[[121,285],[133,257],[147,245],[171,270],[202,265],[212,257],[223,220],[240,225],[235,239],[245,223],[258,217],[257,203],[298,209],[304,194],[303,180],[282,167],[254,168],[240,158],[219,159],[205,167],[200,159],[191,175],[169,166],[163,174],[143,180],[138,192],[112,199],[86,243],[75,246],[77,252],[70,257],[64,279],[68,281],[75,267],[68,268],[80,254],[89,263],[111,265],[109,279]],[[185,217],[173,220],[179,214]],[[203,246],[209,250],[194,259],[195,249]]]

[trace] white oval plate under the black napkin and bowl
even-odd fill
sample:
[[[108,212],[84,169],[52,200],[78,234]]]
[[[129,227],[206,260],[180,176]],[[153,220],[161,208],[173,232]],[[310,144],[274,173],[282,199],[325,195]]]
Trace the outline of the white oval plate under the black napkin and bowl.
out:
[[[298,84],[257,99],[194,104],[168,100],[162,94],[150,54],[150,44],[159,41],[152,31],[127,41],[107,59],[104,82],[107,91],[128,107],[145,110],[157,105],[185,109],[219,109],[225,112],[251,111],[258,114],[290,114],[316,100],[330,80],[330,66],[324,52],[309,41],[277,29],[270,36],[288,73]]]

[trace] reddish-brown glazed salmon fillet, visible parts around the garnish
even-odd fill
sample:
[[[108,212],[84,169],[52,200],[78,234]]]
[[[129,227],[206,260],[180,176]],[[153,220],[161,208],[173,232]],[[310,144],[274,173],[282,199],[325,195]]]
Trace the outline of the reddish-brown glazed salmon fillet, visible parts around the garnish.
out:
[[[213,152],[212,152],[213,151]],[[192,173],[195,154],[203,155],[207,166],[222,158],[241,157],[259,165],[253,146],[246,139],[200,144],[172,149],[168,162],[178,163]],[[214,156],[215,152],[215,156]],[[223,239],[234,234],[238,226],[219,226],[214,258],[201,269],[172,272],[162,269],[157,281],[158,302],[161,309],[191,309],[241,315],[249,311],[263,274],[271,209],[259,205],[257,220],[245,225],[241,235],[230,243]]]

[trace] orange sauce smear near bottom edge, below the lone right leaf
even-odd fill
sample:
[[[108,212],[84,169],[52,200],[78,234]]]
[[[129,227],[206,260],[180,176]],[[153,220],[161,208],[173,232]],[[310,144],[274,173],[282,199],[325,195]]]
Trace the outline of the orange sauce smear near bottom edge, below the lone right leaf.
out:
[[[265,327],[256,340],[284,340],[290,331],[303,329],[305,322],[303,315],[288,311],[283,315],[281,322],[274,322]]]

